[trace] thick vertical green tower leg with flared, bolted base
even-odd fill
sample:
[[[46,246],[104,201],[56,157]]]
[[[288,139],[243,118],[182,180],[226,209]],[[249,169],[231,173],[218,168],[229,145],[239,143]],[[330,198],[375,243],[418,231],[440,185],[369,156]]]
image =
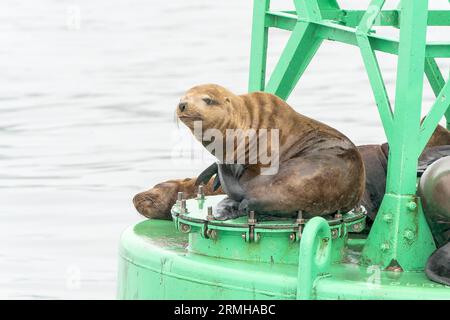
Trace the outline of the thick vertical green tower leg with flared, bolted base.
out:
[[[423,149],[419,140],[428,1],[404,0],[401,6],[396,104],[387,135],[386,194],[363,257],[367,264],[423,270],[435,249],[416,197],[417,160]]]

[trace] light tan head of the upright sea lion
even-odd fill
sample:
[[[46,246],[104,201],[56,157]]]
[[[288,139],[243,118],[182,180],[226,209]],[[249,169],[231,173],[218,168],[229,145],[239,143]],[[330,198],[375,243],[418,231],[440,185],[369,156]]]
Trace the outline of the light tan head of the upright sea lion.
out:
[[[199,85],[189,89],[177,106],[177,117],[191,130],[196,121],[202,128],[221,130],[232,127],[236,116],[236,96],[229,90],[215,84]]]

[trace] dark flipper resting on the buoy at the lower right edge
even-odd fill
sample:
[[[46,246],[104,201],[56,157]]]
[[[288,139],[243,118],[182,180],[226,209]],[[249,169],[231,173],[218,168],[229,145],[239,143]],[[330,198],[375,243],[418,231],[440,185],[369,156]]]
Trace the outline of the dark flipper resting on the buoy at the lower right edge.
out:
[[[450,242],[431,255],[425,273],[430,280],[450,286]]]

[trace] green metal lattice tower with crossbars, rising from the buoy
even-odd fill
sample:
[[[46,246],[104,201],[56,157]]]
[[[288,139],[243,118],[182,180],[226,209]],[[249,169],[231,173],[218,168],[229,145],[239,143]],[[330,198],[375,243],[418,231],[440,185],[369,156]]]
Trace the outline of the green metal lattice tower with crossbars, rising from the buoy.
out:
[[[335,0],[294,0],[295,10],[273,12],[269,0],[254,0],[249,91],[264,90],[287,99],[324,40],[358,46],[389,142],[386,194],[366,241],[362,261],[383,268],[423,270],[435,249],[416,196],[417,160],[440,119],[450,128],[450,86],[435,58],[449,58],[449,43],[427,43],[427,26],[450,25],[449,10],[428,10],[428,0],[402,0],[398,10],[343,10]],[[378,36],[373,26],[400,29],[400,38]],[[266,83],[269,28],[291,31]],[[398,55],[395,108],[391,108],[375,55]],[[436,102],[421,123],[424,75]]]

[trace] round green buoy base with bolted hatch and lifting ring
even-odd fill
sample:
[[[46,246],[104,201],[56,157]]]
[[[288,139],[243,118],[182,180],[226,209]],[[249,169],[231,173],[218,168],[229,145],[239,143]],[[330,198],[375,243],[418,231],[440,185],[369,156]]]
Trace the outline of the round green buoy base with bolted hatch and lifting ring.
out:
[[[121,238],[118,297],[450,299],[450,288],[423,272],[362,262],[362,209],[303,221],[208,218],[208,208],[222,198],[180,201],[173,221],[128,228]]]

